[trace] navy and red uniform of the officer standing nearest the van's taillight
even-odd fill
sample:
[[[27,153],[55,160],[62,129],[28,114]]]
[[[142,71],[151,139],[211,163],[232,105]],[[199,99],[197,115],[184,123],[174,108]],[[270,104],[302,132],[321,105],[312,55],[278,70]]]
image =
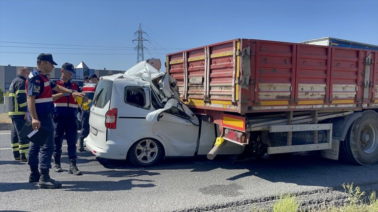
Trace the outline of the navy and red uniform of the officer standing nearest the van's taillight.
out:
[[[74,92],[81,92],[79,85],[68,81],[64,83],[63,80],[54,81],[59,86],[73,90]],[[56,91],[53,91],[55,94]],[[60,167],[60,157],[62,154],[63,135],[65,133],[65,139],[67,141],[68,159],[70,161],[77,158],[76,144],[78,141],[78,102],[72,95],[63,96],[54,101],[54,162]],[[54,167],[55,171],[55,167]],[[58,171],[60,172],[60,171]]]

